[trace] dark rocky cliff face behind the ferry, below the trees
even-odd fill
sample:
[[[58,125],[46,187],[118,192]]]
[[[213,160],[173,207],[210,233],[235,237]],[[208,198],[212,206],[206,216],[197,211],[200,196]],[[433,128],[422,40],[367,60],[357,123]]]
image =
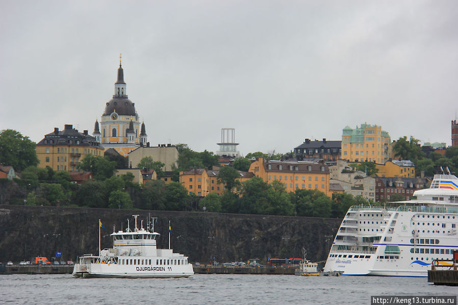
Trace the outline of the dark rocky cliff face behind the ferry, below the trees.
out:
[[[36,256],[64,260],[98,253],[98,219],[101,248],[112,246],[116,231],[134,228],[132,214],[140,214],[138,227],[148,214],[158,217],[154,231],[161,234],[158,247],[168,247],[168,221],[171,220],[171,247],[191,262],[208,263],[210,257],[222,262],[268,257],[302,257],[326,260],[341,219],[290,216],[220,214],[172,211],[139,211],[32,207],[0,205],[0,262],[32,261]]]

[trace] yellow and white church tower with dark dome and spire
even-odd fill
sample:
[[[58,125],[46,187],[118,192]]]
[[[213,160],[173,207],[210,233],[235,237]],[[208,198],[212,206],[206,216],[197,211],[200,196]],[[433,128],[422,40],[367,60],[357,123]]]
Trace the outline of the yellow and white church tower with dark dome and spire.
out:
[[[130,151],[140,147],[139,115],[135,110],[135,104],[127,98],[121,56],[119,57],[115,93],[113,98],[105,104],[100,129],[96,121],[94,136],[97,131],[100,134],[100,144],[105,150],[114,148],[121,155],[127,156]],[[146,141],[146,138],[144,140]]]

